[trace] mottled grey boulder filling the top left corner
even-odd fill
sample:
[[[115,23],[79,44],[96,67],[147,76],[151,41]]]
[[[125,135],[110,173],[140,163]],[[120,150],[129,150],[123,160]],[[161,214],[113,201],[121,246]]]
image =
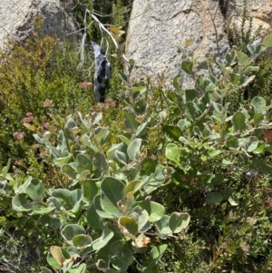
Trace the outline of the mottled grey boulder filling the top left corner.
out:
[[[5,50],[7,37],[23,42],[34,31],[33,19],[44,17],[41,34],[56,35],[63,40],[75,30],[72,18],[67,15],[59,0],[1,0],[0,48]]]

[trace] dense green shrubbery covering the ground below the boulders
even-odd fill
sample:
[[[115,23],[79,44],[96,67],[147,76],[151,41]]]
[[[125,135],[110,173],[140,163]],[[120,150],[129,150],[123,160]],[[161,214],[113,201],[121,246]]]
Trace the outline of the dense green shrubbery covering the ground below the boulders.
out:
[[[0,68],[1,119],[9,121],[1,160],[12,159],[0,180],[2,265],[271,270],[270,94],[251,85],[267,75],[268,47],[272,35],[246,44],[248,54],[232,50],[219,76],[198,77],[190,90],[177,77],[169,92],[119,72],[121,84],[114,73],[111,99],[93,105],[73,49],[38,36],[15,45]],[[181,63],[187,76],[192,66]]]

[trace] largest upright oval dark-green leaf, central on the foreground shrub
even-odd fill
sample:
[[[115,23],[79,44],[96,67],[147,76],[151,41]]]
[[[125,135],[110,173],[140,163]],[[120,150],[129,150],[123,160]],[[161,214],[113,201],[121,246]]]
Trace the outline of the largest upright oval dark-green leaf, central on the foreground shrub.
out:
[[[107,213],[112,214],[115,217],[121,217],[122,212],[118,207],[121,201],[121,205],[125,205],[125,185],[113,177],[106,177],[102,180],[101,184],[101,205],[102,209]]]

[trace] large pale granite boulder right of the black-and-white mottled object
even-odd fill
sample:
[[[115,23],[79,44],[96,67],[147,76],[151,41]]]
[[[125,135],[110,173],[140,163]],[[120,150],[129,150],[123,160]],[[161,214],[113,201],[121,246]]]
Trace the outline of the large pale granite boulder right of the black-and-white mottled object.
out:
[[[183,54],[178,49],[186,41],[193,43]],[[229,50],[224,33],[224,17],[219,2],[213,0],[135,0],[126,42],[126,54],[135,60],[132,77],[160,81],[172,88],[172,79],[180,74],[180,63],[188,54],[197,60],[199,73],[207,72],[207,56],[222,57]],[[184,88],[192,82],[183,82]]]

